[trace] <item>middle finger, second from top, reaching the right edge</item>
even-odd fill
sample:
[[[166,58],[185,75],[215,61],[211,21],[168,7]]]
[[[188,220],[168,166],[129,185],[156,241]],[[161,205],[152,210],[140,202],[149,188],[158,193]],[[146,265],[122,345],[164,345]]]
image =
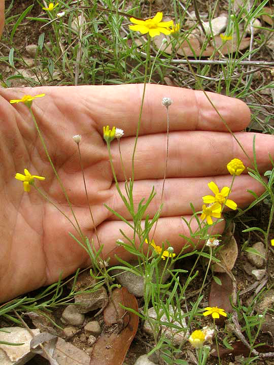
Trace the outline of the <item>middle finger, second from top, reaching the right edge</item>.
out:
[[[236,132],[235,138],[224,132],[183,131],[169,135],[166,177],[199,177],[227,174],[227,163],[233,158],[254,168],[253,138],[256,135],[256,159],[259,171],[271,168],[268,154],[274,156],[274,136]],[[134,138],[121,139],[121,156],[127,178],[132,176]],[[246,153],[244,153],[244,151]],[[125,180],[118,145],[112,145],[114,168],[119,181]],[[248,157],[249,158],[248,158]],[[166,134],[142,136],[134,158],[134,178],[163,178],[166,161]],[[245,174],[248,170],[245,169]]]

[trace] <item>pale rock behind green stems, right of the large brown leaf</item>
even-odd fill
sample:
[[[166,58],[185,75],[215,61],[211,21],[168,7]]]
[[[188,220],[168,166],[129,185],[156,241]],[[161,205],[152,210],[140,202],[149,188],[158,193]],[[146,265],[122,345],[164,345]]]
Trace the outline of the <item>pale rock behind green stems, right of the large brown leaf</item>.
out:
[[[183,311],[181,311],[182,316],[183,316]],[[157,318],[157,314],[154,310],[154,308],[149,308],[148,310],[148,315],[151,318]],[[170,319],[174,319],[174,310],[172,305],[169,305],[169,316]],[[178,316],[178,313],[177,313]],[[163,314],[161,316],[161,318],[159,318],[159,320],[161,322],[168,322],[170,323],[170,320],[167,319],[166,315]],[[179,330],[178,328],[174,328],[174,327],[167,327],[165,325],[161,325],[162,328],[162,334],[164,333],[165,337],[168,338],[169,340],[171,340],[173,342],[174,345],[180,345],[181,342],[183,340],[185,340],[188,336],[189,336],[189,331],[188,330],[184,330],[184,328],[187,328],[187,324],[186,324],[186,320],[185,318],[182,318],[182,324],[180,324],[178,321],[173,320],[172,323],[180,328],[182,328],[182,330]],[[145,321],[144,323],[144,330],[148,333],[148,334],[153,334],[153,329],[151,328],[150,324],[148,321]]]

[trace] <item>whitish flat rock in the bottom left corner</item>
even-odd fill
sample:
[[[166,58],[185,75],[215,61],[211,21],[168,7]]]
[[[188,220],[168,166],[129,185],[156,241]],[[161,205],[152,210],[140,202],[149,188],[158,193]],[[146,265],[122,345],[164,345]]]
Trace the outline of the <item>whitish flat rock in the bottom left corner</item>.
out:
[[[11,343],[23,343],[20,346],[0,344],[0,363],[1,365],[23,365],[30,360],[35,353],[30,352],[29,344],[32,336],[28,330],[21,327],[2,328],[7,332],[0,332],[0,341]],[[33,335],[39,335],[40,329],[32,329]]]

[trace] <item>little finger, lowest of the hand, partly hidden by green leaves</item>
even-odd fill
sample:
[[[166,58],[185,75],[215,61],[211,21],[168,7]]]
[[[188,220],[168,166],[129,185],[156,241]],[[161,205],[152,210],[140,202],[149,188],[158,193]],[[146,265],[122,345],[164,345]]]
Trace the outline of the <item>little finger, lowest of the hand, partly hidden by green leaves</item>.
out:
[[[190,220],[189,216],[185,216],[184,218],[187,219],[187,221]],[[193,232],[195,232],[198,229],[197,222],[195,220],[191,222],[190,226]],[[209,228],[209,234],[210,235],[222,234],[224,227],[225,227],[224,220],[222,220],[218,224],[213,224]],[[99,240],[101,243],[104,243],[102,254],[104,255],[105,259],[107,259],[108,257],[111,258],[110,264],[115,264],[118,262],[115,255],[122,258],[123,260],[130,260],[133,258],[133,256],[128,251],[126,251],[123,247],[117,245],[116,243],[118,239],[124,241],[127,244],[129,243],[125,239],[125,237],[121,234],[121,231],[124,233],[125,236],[132,239],[133,231],[124,222],[119,222],[119,223],[115,221],[104,222],[97,229]],[[161,246],[162,242],[165,243],[165,246],[168,246],[166,244],[167,241],[168,244],[174,248],[174,252],[177,254],[182,250],[183,252],[189,252],[195,248],[198,249],[204,244],[204,242],[201,242],[198,239],[191,239],[191,240],[187,239],[190,237],[189,228],[183,221],[182,217],[159,218],[155,234],[153,235],[153,233],[154,233],[154,228],[152,228],[150,231],[149,234],[150,240],[152,239],[153,236],[153,239],[157,246]],[[187,238],[183,238],[179,235],[185,236]],[[95,237],[94,237],[94,242],[97,243]],[[135,245],[136,247],[139,246],[138,239],[136,239]],[[145,245],[146,244],[144,244],[144,251],[146,252],[147,247]],[[87,264],[89,264],[88,261]]]

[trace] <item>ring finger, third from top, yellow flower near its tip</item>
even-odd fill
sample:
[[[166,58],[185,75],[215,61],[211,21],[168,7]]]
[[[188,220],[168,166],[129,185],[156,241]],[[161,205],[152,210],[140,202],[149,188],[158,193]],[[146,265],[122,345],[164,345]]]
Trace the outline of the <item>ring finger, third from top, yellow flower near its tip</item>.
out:
[[[161,211],[162,217],[192,214],[190,203],[194,206],[196,212],[201,211],[203,205],[202,196],[215,196],[208,187],[208,183],[211,181],[214,181],[221,191],[224,186],[231,186],[232,176],[226,175],[203,178],[166,179],[162,200],[161,194],[163,180],[135,181],[132,193],[134,211],[136,212],[138,210],[138,205],[142,199],[144,199],[143,204],[147,202],[153,187],[156,195],[149,204],[144,216],[148,214],[149,218],[153,218],[161,203],[163,203]],[[124,184],[121,183],[119,186],[122,193],[126,196]],[[264,187],[251,176],[237,176],[234,180],[231,193],[228,198],[234,201],[239,208],[244,208],[254,201],[253,195],[248,192],[248,190],[252,190],[260,196],[264,192]],[[115,186],[112,187],[112,192],[113,196],[108,201],[107,205],[125,219],[132,219]],[[109,219],[117,220],[118,218],[116,215],[110,213]]]

